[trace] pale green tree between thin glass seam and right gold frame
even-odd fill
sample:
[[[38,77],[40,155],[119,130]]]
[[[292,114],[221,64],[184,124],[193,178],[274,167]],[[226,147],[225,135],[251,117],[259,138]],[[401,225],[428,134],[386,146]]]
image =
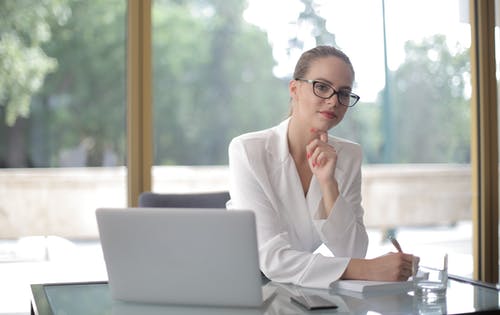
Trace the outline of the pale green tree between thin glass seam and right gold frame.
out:
[[[470,161],[469,52],[457,50],[444,35],[406,43],[405,61],[391,74],[396,162]]]

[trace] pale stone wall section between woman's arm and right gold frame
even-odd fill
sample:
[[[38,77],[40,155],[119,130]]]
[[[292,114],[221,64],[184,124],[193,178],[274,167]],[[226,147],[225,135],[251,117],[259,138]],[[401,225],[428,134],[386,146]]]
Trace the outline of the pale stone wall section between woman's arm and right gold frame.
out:
[[[469,165],[371,165],[363,168],[365,224],[451,225],[472,218]]]

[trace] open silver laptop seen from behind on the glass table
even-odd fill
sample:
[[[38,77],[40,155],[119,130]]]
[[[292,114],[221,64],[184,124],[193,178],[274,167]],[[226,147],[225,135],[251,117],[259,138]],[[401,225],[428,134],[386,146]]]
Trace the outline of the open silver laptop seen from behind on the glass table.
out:
[[[114,299],[263,304],[252,211],[101,208],[96,217]]]

